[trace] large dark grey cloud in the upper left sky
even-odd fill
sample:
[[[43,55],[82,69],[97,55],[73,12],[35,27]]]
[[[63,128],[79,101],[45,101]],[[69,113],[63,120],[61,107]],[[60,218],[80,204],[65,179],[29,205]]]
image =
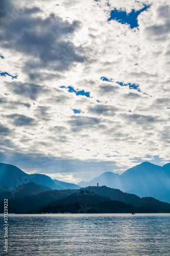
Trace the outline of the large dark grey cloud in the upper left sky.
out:
[[[16,12],[14,17],[8,12],[10,8]],[[48,69],[52,65],[51,70],[63,71],[68,70],[74,62],[85,61],[82,48],[76,47],[70,40],[80,27],[77,20],[68,23],[53,13],[43,19],[32,15],[41,11],[37,7],[23,7],[23,13],[19,14],[18,7],[10,1],[8,8],[6,3],[1,1],[0,10],[2,48],[13,49],[28,56],[23,71],[31,73],[31,79],[36,69]],[[6,17],[12,21],[7,21]]]

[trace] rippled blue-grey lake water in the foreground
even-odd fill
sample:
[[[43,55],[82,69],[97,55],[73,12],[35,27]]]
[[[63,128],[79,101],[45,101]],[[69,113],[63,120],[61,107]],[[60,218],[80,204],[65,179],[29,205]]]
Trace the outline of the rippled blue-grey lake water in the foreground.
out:
[[[0,255],[140,256],[170,255],[170,214],[4,215]]]

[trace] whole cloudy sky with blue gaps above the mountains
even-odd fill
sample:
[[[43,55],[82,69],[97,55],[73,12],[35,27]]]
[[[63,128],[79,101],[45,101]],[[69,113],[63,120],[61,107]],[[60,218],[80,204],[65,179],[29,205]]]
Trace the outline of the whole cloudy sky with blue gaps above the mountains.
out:
[[[170,4],[0,1],[0,162],[78,183],[170,161]]]

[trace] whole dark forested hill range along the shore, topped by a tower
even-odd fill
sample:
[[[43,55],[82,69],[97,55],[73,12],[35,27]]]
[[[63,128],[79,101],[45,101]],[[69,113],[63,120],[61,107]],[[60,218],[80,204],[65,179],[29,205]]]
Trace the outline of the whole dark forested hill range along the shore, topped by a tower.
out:
[[[8,205],[10,213],[170,212],[168,203],[160,202],[152,197],[140,198],[106,186],[89,186],[85,190],[46,190],[34,196],[9,199]],[[4,200],[0,201],[0,212],[3,210]]]

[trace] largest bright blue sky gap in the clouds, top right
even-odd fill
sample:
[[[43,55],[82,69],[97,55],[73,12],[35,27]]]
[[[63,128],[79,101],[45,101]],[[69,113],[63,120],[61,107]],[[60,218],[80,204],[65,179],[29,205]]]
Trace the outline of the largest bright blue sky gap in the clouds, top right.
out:
[[[128,24],[130,25],[130,28],[133,29],[133,28],[137,28],[139,25],[137,23],[137,17],[138,15],[147,10],[150,6],[148,5],[144,5],[144,7],[139,10],[139,11],[135,11],[134,9],[127,14],[126,11],[122,11],[121,9],[120,10],[112,10],[111,13],[110,13],[110,18],[108,19],[109,20],[117,20],[117,22],[121,23],[121,24]]]

